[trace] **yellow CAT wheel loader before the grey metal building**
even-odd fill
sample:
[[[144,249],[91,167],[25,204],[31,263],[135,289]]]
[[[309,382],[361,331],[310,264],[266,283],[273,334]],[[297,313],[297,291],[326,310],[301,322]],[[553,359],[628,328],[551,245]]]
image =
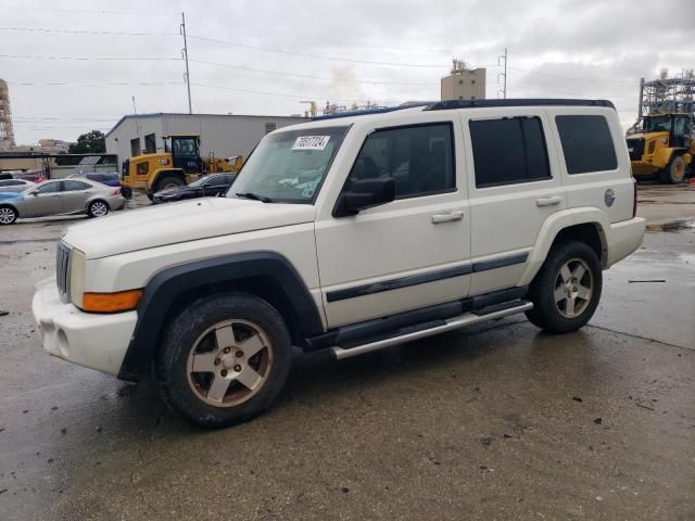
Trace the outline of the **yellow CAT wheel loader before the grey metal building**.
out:
[[[164,152],[144,153],[123,162],[122,183],[151,199],[154,192],[188,185],[205,174],[237,173],[242,164],[240,155],[201,157],[197,135],[164,136]]]

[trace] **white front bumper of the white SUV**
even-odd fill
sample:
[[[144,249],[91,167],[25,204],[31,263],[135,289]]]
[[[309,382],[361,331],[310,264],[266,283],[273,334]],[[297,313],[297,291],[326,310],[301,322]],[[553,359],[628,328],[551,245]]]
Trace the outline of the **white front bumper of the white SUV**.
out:
[[[49,354],[115,376],[138,320],[136,312],[93,314],[63,304],[55,279],[36,285],[31,313],[41,344]]]

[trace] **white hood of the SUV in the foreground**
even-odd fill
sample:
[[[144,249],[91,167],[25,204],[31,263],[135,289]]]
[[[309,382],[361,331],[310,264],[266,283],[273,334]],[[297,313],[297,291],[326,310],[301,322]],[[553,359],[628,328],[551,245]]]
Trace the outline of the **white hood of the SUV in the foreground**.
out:
[[[314,220],[314,206],[210,198],[126,211],[67,228],[63,240],[87,258]]]

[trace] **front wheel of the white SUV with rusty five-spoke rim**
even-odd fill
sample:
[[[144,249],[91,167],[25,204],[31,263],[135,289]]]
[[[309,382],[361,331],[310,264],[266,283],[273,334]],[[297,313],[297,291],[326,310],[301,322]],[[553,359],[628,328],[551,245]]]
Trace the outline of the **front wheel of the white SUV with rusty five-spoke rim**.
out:
[[[169,408],[218,429],[250,420],[273,403],[290,356],[287,326],[266,301],[247,293],[213,295],[168,322],[153,377]]]

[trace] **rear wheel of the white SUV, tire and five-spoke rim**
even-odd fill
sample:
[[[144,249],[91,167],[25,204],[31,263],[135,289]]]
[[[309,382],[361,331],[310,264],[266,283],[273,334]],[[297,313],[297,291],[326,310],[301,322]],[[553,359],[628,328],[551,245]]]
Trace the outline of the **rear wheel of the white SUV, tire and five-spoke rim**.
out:
[[[551,333],[577,331],[594,315],[602,288],[601,263],[591,246],[579,241],[560,243],[531,283],[533,309],[526,316]]]

